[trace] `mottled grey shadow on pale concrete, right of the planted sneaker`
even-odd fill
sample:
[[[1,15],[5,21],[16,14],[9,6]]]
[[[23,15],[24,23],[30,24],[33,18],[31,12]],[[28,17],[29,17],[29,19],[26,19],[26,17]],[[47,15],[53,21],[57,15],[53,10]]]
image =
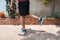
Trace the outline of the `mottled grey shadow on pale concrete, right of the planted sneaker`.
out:
[[[59,32],[60,31],[58,31],[57,33]],[[42,30],[38,31],[28,29],[22,40],[60,40],[60,35],[56,36],[55,34],[47,33]]]

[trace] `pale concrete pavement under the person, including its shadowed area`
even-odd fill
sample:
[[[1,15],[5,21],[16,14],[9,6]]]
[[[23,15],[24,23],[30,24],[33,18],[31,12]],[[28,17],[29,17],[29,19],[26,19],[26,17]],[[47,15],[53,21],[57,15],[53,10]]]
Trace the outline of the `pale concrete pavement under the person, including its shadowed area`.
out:
[[[26,25],[27,33],[18,35],[21,25],[0,25],[0,40],[60,40],[60,25]]]

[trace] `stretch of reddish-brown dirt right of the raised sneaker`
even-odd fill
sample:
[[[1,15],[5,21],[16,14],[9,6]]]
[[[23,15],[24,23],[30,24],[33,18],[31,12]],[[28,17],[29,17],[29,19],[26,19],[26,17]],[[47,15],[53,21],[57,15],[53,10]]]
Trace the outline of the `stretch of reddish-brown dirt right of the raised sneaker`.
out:
[[[44,19],[43,21],[44,25],[60,25],[60,18],[50,18],[50,19]]]

